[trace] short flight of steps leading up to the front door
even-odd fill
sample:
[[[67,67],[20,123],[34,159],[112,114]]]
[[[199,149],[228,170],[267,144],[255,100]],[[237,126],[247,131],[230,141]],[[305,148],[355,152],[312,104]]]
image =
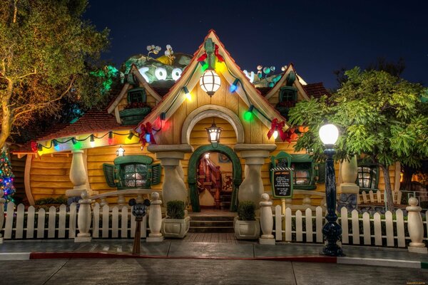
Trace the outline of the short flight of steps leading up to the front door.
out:
[[[232,216],[190,215],[189,232],[234,232]]]

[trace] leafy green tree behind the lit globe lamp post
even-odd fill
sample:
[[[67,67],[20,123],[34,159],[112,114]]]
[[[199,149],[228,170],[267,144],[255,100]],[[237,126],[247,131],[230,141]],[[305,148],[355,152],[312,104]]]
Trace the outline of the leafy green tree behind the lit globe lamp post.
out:
[[[428,157],[427,103],[422,103],[422,86],[385,71],[345,72],[347,81],[331,98],[323,96],[297,103],[290,110],[290,123],[307,125],[296,150],[314,149],[321,160],[320,126],[329,121],[340,128],[336,159],[364,157],[384,174],[387,207],[394,209],[388,167],[394,162],[420,165]]]

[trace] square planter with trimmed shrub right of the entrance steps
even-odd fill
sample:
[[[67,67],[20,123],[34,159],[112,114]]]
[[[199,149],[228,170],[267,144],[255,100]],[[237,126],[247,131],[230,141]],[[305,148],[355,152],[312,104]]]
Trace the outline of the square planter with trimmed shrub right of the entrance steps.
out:
[[[260,222],[255,219],[255,204],[242,201],[238,205],[238,217],[235,217],[235,237],[237,239],[258,239]]]

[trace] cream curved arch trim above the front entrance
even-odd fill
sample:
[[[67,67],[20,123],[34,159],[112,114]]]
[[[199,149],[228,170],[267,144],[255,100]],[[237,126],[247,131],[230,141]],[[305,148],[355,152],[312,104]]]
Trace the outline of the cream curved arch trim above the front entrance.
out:
[[[220,105],[203,105],[193,110],[193,112],[185,118],[183,128],[181,128],[181,143],[190,145],[190,133],[192,133],[193,127],[195,127],[196,123],[200,120],[211,117],[227,120],[228,123],[232,125],[233,130],[235,130],[237,143],[244,142],[244,128],[238,115]]]

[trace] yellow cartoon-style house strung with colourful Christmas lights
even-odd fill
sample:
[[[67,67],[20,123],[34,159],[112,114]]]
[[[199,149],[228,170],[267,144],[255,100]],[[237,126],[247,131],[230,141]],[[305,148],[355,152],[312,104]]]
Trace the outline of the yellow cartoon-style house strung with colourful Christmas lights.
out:
[[[147,189],[160,192],[164,204],[188,202],[194,212],[235,210],[238,201],[258,205],[263,192],[272,195],[272,167],[295,170],[294,195],[275,203],[295,209],[322,204],[322,167],[294,152],[297,132],[287,123],[296,102],[327,93],[322,83],[305,83],[292,64],[273,81],[244,73],[214,31],[192,58],[169,60],[168,68],[161,61],[134,61],[104,110],[56,126],[32,150],[13,150],[26,155],[30,204],[43,197],[79,197],[83,190],[93,197],[121,192],[118,201],[105,202],[124,204],[130,190]],[[250,82],[254,78],[258,83]],[[360,168],[361,187],[382,189],[379,170]],[[392,167],[392,177],[399,177],[397,170]]]

